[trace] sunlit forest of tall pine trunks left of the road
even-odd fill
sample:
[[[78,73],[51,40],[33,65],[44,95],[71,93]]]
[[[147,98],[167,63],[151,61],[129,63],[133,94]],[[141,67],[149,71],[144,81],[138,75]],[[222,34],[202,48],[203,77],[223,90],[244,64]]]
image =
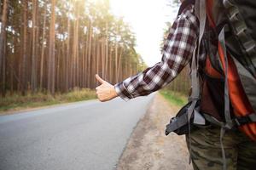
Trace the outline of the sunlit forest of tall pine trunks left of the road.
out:
[[[108,0],[1,0],[0,94],[54,95],[116,83],[145,67]]]

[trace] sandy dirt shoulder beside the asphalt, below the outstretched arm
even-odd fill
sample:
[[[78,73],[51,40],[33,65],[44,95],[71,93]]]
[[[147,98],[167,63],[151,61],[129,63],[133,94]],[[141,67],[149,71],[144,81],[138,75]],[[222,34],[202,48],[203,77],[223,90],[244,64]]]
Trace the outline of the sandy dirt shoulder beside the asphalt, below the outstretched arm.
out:
[[[131,134],[117,170],[192,170],[184,136],[164,133],[178,109],[157,94]]]

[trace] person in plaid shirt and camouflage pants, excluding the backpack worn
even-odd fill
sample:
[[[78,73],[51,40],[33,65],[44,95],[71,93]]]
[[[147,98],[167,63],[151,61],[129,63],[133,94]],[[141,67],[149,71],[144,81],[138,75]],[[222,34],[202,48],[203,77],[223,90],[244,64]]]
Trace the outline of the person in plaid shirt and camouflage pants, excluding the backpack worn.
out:
[[[170,28],[161,61],[114,86],[96,75],[96,79],[102,83],[96,88],[98,99],[108,101],[119,96],[127,101],[165,87],[190,62],[198,37],[199,21],[195,15],[194,5],[190,4],[177,16]],[[205,62],[204,56],[204,54],[200,55],[200,63]],[[191,146],[190,154],[194,169],[222,169],[224,162],[219,129],[212,126],[193,131],[190,135],[191,144],[187,137],[188,147]],[[227,169],[241,170],[256,167],[256,144],[243,133],[238,130],[228,131],[224,135],[223,145]]]

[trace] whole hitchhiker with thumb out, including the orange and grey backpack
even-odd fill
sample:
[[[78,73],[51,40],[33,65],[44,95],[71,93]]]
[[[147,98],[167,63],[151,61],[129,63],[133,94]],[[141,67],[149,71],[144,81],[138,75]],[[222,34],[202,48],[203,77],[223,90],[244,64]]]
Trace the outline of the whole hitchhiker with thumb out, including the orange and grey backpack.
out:
[[[98,99],[151,94],[189,64],[189,103],[171,119],[166,135],[186,135],[194,169],[255,169],[255,9],[255,0],[183,1],[161,61],[114,86],[96,75],[102,83]]]

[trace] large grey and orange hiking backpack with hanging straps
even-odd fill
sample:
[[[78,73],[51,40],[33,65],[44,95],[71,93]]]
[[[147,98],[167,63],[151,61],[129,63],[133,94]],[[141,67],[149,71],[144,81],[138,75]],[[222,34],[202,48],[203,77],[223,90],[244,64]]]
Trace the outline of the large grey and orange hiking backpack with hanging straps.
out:
[[[179,111],[166,126],[166,135],[180,132],[180,128],[183,129],[182,133],[177,134],[190,135],[190,131],[197,126],[196,105],[200,102],[201,116],[221,127],[221,143],[224,132],[236,127],[256,141],[256,32],[253,31],[256,27],[256,1],[185,2],[183,4],[195,4],[195,14],[200,23],[199,38],[191,62],[192,94],[185,109]],[[182,8],[184,5],[181,5],[179,13]],[[196,59],[201,45],[207,52],[202,85]],[[218,95],[214,97],[214,94]],[[223,108],[213,105],[216,100],[220,100],[218,105],[223,105]],[[224,112],[223,116],[218,114],[219,111]],[[225,169],[224,147],[221,145]]]

